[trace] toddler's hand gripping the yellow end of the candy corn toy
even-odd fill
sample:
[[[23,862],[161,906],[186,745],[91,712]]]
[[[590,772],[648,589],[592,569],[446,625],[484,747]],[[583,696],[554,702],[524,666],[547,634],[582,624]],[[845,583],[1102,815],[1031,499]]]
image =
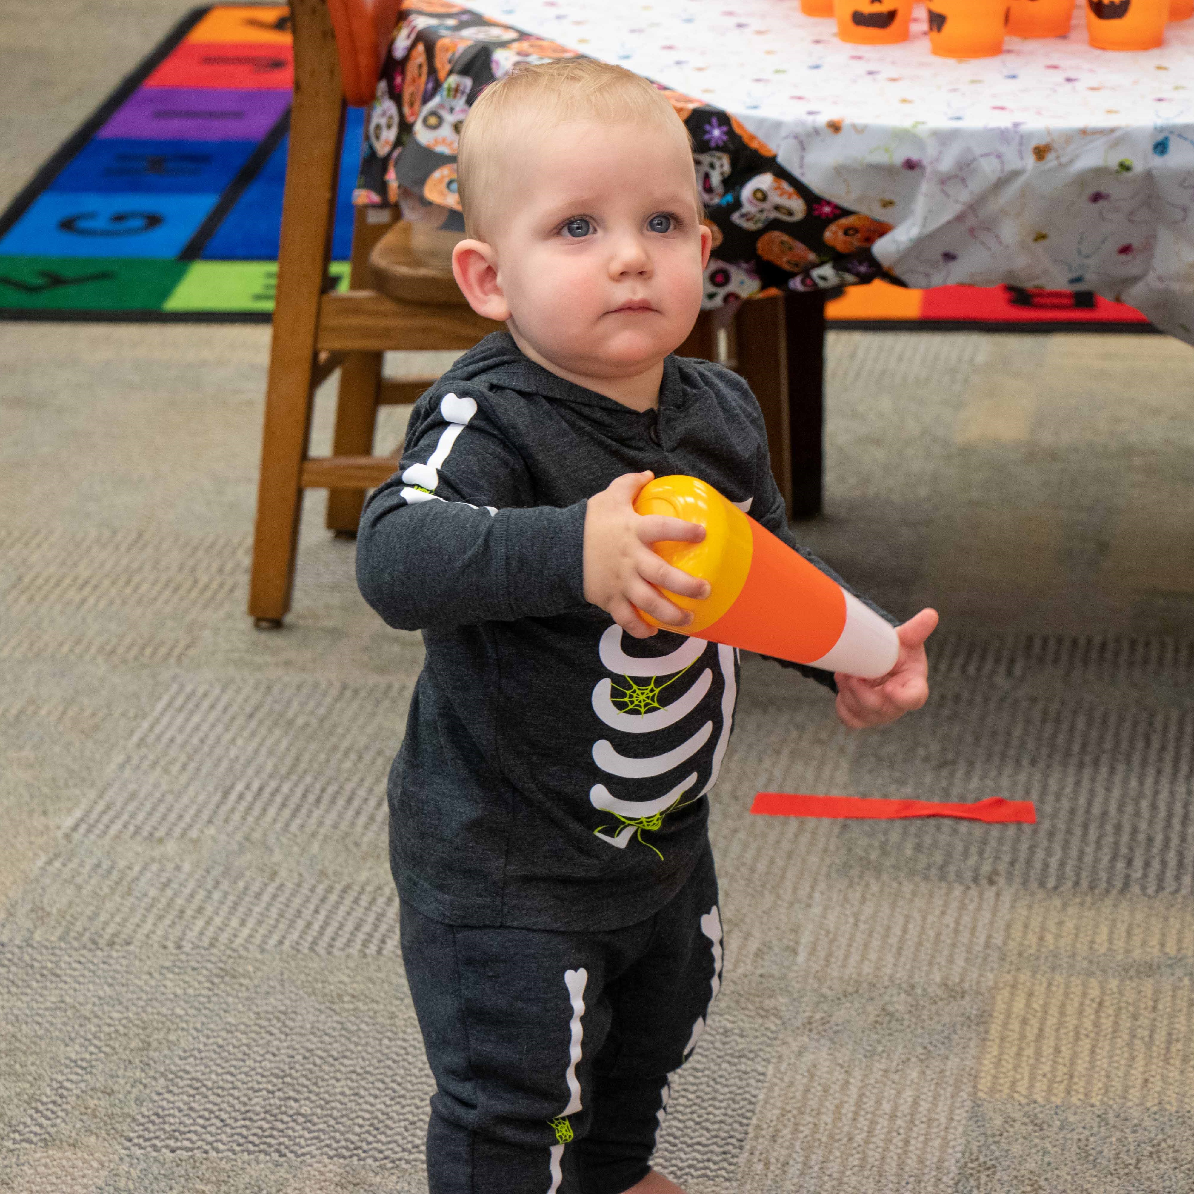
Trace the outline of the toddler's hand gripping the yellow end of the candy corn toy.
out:
[[[707,580],[673,568],[651,550],[651,543],[663,540],[700,543],[704,538],[704,528],[697,523],[635,513],[634,499],[654,475],[626,473],[616,478],[609,488],[589,499],[585,512],[585,601],[605,610],[636,639],[648,639],[659,632],[639,617],[635,605],[672,626],[693,621],[691,614],[673,605],[659,589],[684,597],[709,596]]]

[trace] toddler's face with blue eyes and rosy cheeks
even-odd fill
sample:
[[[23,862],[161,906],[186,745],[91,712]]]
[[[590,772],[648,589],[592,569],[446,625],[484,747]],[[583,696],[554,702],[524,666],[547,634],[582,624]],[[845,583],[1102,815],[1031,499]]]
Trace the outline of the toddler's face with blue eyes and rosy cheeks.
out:
[[[571,374],[651,368],[691,331],[709,256],[682,130],[584,119],[525,141],[488,233],[511,331]]]

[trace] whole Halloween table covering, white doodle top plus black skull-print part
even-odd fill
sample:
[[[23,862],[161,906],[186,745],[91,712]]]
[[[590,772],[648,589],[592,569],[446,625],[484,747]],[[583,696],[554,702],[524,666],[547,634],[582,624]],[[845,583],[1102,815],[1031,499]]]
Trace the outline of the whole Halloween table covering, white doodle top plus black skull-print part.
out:
[[[469,101],[517,61],[581,53],[666,88],[715,226],[706,306],[884,270],[915,287],[1094,290],[1194,343],[1194,20],[1157,50],[1007,39],[858,47],[796,0],[408,0],[367,121],[356,199],[462,227]]]

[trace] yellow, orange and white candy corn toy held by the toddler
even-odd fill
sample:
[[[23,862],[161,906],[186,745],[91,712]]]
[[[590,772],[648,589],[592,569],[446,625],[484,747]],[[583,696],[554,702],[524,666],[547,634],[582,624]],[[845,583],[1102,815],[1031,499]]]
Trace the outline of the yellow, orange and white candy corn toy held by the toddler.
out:
[[[703,601],[663,590],[693,613],[688,626],[667,626],[639,610],[644,621],[868,679],[894,667],[899,656],[894,628],[712,485],[695,476],[660,476],[639,491],[634,509],[704,527],[700,543],[669,541],[654,549],[675,567],[708,580],[712,589]]]

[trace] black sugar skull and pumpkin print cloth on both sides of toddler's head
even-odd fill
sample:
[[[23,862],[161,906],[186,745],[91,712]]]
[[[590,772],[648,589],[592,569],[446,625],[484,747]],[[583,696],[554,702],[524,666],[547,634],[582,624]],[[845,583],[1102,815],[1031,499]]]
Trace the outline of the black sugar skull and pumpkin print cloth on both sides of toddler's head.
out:
[[[577,51],[449,0],[406,0],[401,17],[369,112],[353,199],[417,196],[443,214],[433,223],[462,232],[455,158],[469,104],[516,63]],[[704,222],[714,232],[702,307],[784,289],[832,290],[886,272],[872,246],[891,224],[810,190],[728,112],[656,86],[693,139]]]

